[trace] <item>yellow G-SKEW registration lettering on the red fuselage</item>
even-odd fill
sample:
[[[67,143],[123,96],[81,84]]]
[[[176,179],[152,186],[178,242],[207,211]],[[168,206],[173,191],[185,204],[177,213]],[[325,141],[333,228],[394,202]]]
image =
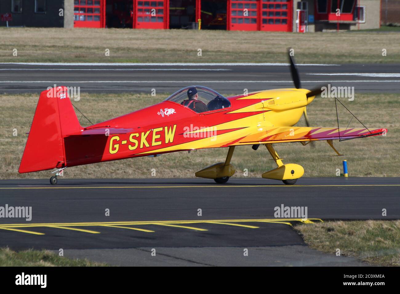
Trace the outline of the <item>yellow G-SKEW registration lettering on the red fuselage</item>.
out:
[[[117,152],[133,151],[144,149],[161,144],[170,144],[174,142],[176,124],[173,126],[164,126],[146,130],[140,133],[121,134],[112,136],[109,143],[108,152],[116,154]]]

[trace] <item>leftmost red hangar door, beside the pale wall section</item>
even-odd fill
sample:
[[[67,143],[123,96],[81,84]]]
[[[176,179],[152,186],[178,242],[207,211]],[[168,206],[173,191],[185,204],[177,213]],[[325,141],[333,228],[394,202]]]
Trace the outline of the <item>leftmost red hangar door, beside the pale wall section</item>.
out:
[[[74,0],[75,28],[104,28],[105,0]]]

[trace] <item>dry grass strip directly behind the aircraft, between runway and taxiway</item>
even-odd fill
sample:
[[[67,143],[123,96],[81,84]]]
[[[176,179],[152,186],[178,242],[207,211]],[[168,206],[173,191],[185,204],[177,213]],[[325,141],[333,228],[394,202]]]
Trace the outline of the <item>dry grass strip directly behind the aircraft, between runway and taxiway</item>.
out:
[[[0,94],[2,106],[0,129],[0,178],[48,178],[50,172],[18,174],[18,166],[26,143],[30,124],[34,115],[38,94]],[[148,94],[85,94],[74,102],[93,123],[138,110],[164,100],[166,95],[156,97]],[[335,176],[336,168],[342,170],[342,160],[348,161],[349,176],[400,176],[398,145],[400,123],[400,94],[356,94],[352,102],[343,101],[367,127],[388,128],[386,137],[376,136],[344,142],[335,141],[336,148],[345,156],[334,156],[334,151],[325,141],[316,142],[312,148],[300,143],[275,144],[284,163],[297,163],[304,167],[305,177]],[[308,107],[308,115],[313,126],[335,127],[336,111],[334,101],[316,98]],[[78,118],[80,118],[78,114]],[[350,115],[339,112],[341,127],[347,126]],[[82,125],[87,122],[82,118]],[[298,123],[304,126],[303,118]],[[361,127],[352,120],[350,126]],[[12,136],[13,129],[18,136]],[[262,146],[261,146],[262,147]],[[236,148],[232,164],[236,167],[235,177],[248,169],[250,177],[260,177],[263,172],[275,167],[266,148],[257,151],[250,146]],[[157,178],[187,178],[210,164],[225,160],[227,148],[203,149],[197,152],[176,152],[156,158],[133,158],[104,162],[87,166],[68,168],[69,178],[149,178],[151,169],[156,168]]]

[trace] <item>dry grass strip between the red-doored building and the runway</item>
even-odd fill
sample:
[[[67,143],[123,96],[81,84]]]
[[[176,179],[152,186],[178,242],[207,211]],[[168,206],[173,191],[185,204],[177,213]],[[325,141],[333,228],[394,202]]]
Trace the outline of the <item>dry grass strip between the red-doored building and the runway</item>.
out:
[[[302,63],[400,63],[398,32],[0,28],[0,35],[0,62],[287,62],[290,47]]]

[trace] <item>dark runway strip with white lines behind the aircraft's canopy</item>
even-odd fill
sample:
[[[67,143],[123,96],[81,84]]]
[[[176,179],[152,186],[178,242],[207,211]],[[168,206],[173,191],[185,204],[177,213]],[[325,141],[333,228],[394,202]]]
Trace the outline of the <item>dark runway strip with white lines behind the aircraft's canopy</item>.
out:
[[[357,92],[400,92],[399,64],[299,64],[302,87],[350,86]],[[203,85],[221,93],[291,88],[287,64],[46,64],[0,63],[0,92],[41,92],[49,86],[81,92],[173,93]]]

